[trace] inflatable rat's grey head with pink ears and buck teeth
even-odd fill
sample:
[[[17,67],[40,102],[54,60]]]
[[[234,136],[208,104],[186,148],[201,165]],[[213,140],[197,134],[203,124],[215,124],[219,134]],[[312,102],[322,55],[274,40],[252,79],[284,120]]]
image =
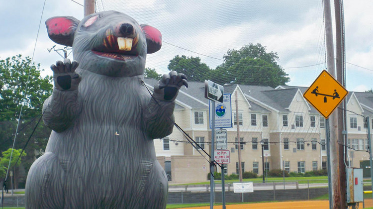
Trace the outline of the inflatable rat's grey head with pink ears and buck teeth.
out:
[[[158,51],[162,44],[159,30],[116,11],[90,14],[82,21],[52,17],[45,24],[50,39],[73,47],[80,68],[101,75],[142,75],[146,54]]]

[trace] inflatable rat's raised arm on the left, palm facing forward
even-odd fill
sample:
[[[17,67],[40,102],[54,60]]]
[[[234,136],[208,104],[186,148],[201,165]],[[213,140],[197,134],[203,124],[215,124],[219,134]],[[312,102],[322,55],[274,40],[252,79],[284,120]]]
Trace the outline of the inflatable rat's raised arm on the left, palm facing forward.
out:
[[[54,88],[43,104],[43,121],[56,132],[66,130],[80,111],[78,86],[82,77],[75,73],[78,63],[69,59],[52,65]]]

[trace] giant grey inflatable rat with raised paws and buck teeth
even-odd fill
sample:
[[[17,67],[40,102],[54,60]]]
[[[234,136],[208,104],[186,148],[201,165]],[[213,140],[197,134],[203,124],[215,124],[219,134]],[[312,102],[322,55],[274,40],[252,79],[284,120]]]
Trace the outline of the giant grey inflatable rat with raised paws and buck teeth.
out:
[[[53,131],[29,170],[26,208],[166,208],[168,181],[152,139],[172,133],[187,78],[171,71],[147,91],[146,54],[161,48],[161,33],[116,11],[52,17],[46,26],[76,61],[51,66],[43,120]]]

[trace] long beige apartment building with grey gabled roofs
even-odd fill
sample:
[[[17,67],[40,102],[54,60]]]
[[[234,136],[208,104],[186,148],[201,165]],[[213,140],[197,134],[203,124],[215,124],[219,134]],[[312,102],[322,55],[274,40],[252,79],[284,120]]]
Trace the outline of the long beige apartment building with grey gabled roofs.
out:
[[[156,82],[145,79],[151,90]],[[187,89],[181,88],[174,112],[176,123],[184,132],[175,127],[168,137],[154,140],[158,160],[174,183],[206,181],[209,173],[209,102],[204,98],[204,83],[188,84]],[[226,175],[238,173],[238,149],[241,150],[243,172],[262,175],[263,167],[265,170],[285,169],[299,173],[326,169],[325,119],[303,98],[306,89],[293,86],[276,89],[236,84],[224,86],[224,93],[231,94],[233,123],[231,128],[225,128],[230,151],[230,163],[224,169]],[[373,116],[373,94],[351,92],[347,101],[347,110],[350,111],[347,111],[346,142],[352,148],[346,153],[349,158],[347,163],[358,167],[360,160],[369,159],[366,152],[368,127],[363,116]],[[240,146],[236,143],[237,124],[242,142]],[[189,143],[186,134],[199,147]]]

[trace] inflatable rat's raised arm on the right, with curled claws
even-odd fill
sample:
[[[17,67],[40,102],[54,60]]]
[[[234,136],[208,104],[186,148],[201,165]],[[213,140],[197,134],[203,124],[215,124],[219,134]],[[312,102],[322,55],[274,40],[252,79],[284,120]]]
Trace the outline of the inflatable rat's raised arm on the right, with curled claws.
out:
[[[182,86],[188,86],[187,77],[171,71],[154,86],[153,97],[144,109],[144,126],[152,138],[163,138],[172,133],[175,123],[175,99]]]

